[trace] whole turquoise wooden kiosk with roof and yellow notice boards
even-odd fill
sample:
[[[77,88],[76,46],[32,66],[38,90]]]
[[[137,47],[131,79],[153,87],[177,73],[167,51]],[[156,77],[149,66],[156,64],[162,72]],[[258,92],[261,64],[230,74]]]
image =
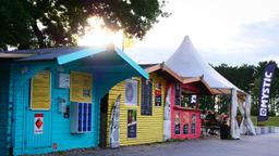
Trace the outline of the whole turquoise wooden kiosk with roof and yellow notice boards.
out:
[[[148,74],[113,46],[0,52],[0,153],[97,147],[100,100]]]

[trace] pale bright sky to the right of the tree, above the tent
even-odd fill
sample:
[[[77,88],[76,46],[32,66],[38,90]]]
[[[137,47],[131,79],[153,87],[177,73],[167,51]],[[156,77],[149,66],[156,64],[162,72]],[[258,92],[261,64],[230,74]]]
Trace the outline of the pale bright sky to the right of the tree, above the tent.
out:
[[[125,53],[137,63],[160,63],[185,36],[210,64],[279,63],[278,0],[169,0],[160,18],[142,41]]]

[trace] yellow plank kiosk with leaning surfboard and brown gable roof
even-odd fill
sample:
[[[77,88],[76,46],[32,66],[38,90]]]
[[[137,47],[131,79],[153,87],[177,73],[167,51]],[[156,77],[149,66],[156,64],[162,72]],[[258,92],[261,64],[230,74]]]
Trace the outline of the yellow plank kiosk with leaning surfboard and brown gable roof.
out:
[[[102,146],[119,147],[165,141],[166,87],[169,82],[180,82],[180,77],[163,64],[141,66],[149,74],[149,79],[125,79],[116,84],[102,101]]]

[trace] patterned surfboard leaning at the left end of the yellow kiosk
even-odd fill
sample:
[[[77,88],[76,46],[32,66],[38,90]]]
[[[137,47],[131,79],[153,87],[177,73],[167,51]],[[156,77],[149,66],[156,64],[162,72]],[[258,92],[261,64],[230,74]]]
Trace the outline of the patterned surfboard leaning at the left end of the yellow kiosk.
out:
[[[111,112],[110,127],[109,127],[109,140],[110,147],[120,146],[120,99],[121,94],[118,95]]]

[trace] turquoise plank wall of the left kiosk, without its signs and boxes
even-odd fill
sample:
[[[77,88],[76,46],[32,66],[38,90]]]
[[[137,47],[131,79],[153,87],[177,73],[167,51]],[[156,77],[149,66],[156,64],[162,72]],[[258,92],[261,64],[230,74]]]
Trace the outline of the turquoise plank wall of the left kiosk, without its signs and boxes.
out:
[[[17,63],[12,65],[10,86],[10,100],[13,101],[14,118],[12,123],[12,142],[14,154],[41,154],[53,151],[65,151],[78,147],[96,147],[99,143],[99,125],[100,125],[100,99],[118,82],[140,76],[137,72],[113,73],[96,73],[88,68],[83,68],[81,61],[68,63],[59,66],[56,62],[32,62]],[[29,109],[29,79],[41,69],[51,70],[51,109],[48,112],[34,112]],[[93,102],[92,102],[92,132],[84,134],[73,134],[70,132],[70,118],[64,118],[59,113],[59,98],[65,98],[70,105],[69,89],[57,88],[58,73],[68,73],[71,70],[85,72],[93,74]],[[44,127],[44,132],[50,133],[49,138],[36,139],[34,136],[34,114],[46,114],[46,121],[51,122]],[[45,121],[45,118],[44,118]],[[57,150],[52,148],[57,145]]]

